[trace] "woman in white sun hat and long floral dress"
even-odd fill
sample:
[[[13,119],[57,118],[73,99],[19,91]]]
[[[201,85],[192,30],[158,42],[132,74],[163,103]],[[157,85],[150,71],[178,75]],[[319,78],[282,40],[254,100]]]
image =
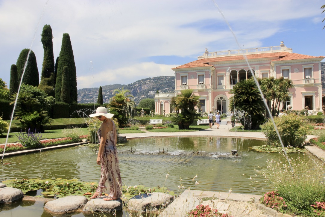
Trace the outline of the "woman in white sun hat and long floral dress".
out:
[[[101,177],[96,192],[90,198],[94,199],[100,197],[103,193],[108,194],[108,197],[105,197],[104,200],[117,200],[122,195],[122,179],[116,149],[116,128],[111,119],[113,114],[107,113],[107,109],[100,106],[96,109],[95,114],[89,116],[97,117],[102,121],[102,124],[97,131],[100,140],[97,164],[101,165]]]

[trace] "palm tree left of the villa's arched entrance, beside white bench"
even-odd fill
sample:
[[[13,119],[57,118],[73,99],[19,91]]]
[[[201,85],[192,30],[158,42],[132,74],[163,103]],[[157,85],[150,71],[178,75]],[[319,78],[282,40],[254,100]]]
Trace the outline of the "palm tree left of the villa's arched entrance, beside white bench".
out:
[[[195,109],[199,103],[200,96],[195,96],[192,93],[192,89],[181,90],[181,94],[172,100],[171,104],[176,109],[176,116],[172,120],[177,122],[178,129],[188,129],[194,120],[201,118],[200,114],[197,113],[198,110]],[[178,110],[181,110],[180,114]]]

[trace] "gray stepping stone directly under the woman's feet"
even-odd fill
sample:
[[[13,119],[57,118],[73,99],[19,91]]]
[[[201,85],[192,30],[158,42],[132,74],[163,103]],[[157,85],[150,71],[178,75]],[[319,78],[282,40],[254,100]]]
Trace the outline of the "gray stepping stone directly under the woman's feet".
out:
[[[83,212],[115,212],[122,210],[123,201],[121,199],[118,200],[110,200],[105,201],[103,197],[95,198],[85,205]]]

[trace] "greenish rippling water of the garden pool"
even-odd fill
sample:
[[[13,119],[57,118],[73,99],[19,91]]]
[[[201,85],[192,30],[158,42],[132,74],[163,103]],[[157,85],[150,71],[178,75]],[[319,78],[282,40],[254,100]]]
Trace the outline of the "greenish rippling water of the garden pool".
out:
[[[119,151],[131,150],[156,154],[119,154],[123,185],[165,186],[171,191],[185,188],[234,193],[262,194],[268,189],[255,167],[264,167],[267,158],[283,158],[279,153],[249,149],[265,141],[227,137],[156,137],[128,140]],[[214,153],[210,156],[158,155],[159,149],[177,154]],[[231,150],[238,150],[238,157]],[[297,157],[301,154],[292,154]],[[63,178],[95,181],[100,178],[97,154],[90,147],[70,147],[27,155],[7,157],[1,165],[0,181],[21,178]],[[169,176],[166,179],[166,174]],[[197,174],[197,178],[192,181]],[[180,179],[182,179],[180,181]],[[196,181],[200,183],[195,185]],[[264,190],[262,190],[264,188]]]

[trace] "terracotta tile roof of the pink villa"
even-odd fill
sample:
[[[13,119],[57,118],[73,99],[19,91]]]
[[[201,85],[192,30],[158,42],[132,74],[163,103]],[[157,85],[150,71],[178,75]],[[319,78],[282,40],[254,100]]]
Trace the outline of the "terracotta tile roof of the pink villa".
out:
[[[274,53],[260,53],[260,54],[248,54],[247,59],[263,59],[263,58],[274,58],[271,61],[285,61],[285,60],[300,60],[300,59],[312,59],[312,58],[325,58],[323,56],[314,57],[298,53],[288,53],[288,52],[274,52]],[[244,60],[244,56],[225,56],[225,57],[213,57],[196,60],[193,62],[186,63],[181,66],[177,66],[172,69],[182,69],[182,68],[195,68],[195,67],[206,67],[213,66],[212,62],[222,62],[222,61],[235,61]]]

